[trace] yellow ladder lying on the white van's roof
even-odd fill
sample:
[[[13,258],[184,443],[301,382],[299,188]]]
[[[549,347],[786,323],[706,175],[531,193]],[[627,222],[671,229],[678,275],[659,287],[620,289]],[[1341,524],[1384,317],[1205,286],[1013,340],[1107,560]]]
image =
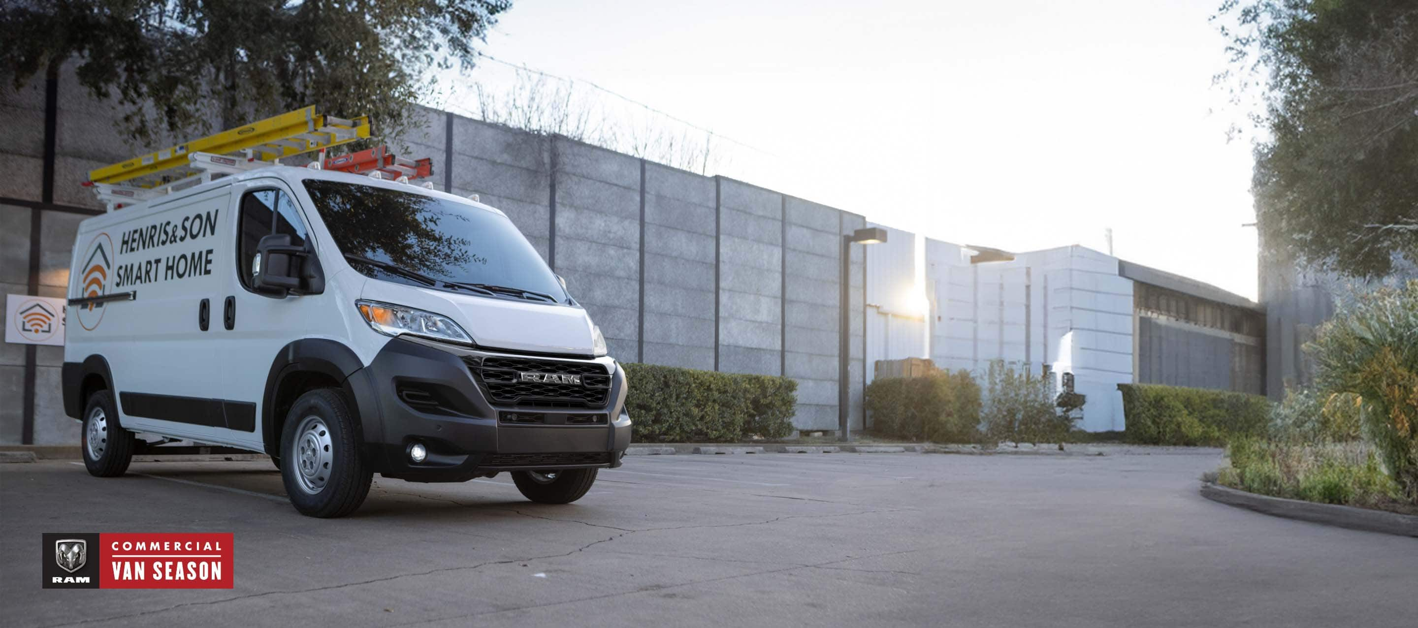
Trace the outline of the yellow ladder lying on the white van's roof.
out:
[[[91,170],[85,186],[113,211],[220,176],[275,166],[282,157],[315,150],[323,157],[325,149],[363,138],[369,138],[369,116],[335,118],[305,106]]]

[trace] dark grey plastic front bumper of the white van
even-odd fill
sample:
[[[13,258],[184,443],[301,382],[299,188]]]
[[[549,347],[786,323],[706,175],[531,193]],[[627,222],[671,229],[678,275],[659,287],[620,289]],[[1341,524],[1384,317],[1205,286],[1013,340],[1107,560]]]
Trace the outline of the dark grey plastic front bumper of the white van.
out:
[[[604,407],[556,408],[493,403],[465,361],[485,357],[529,359],[396,337],[346,380],[373,471],[414,482],[461,482],[501,471],[620,466],[631,421],[625,374],[614,360],[532,357],[611,370]],[[537,422],[506,422],[513,420]],[[408,459],[414,442],[428,449],[420,464]]]

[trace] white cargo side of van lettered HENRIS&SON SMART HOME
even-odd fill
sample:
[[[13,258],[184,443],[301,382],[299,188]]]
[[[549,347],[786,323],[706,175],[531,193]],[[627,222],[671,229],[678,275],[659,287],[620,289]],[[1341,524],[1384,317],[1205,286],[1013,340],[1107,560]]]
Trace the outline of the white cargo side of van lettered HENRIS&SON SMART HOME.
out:
[[[211,335],[221,329],[223,279],[233,265],[230,198],[230,189],[218,187],[157,200],[119,210],[133,214],[96,221],[79,235],[69,298],[129,292],[133,298],[71,306],[72,347],[65,359],[108,361],[119,417],[129,430],[228,442],[225,425],[220,431],[211,425],[207,408],[224,388]],[[199,325],[201,299],[214,312],[207,330]]]

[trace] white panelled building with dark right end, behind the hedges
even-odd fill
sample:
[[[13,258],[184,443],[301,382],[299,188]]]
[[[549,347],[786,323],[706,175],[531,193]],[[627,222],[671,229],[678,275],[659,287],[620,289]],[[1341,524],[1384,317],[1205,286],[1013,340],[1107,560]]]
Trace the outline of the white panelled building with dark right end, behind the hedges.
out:
[[[892,230],[893,241],[913,234]],[[1255,302],[1208,284],[1085,248],[1007,254],[925,238],[929,335],[915,343],[915,276],[902,249],[868,252],[866,354],[927,356],[940,369],[983,379],[994,360],[1061,386],[1071,373],[1088,396],[1081,427],[1126,427],[1117,384],[1157,383],[1265,393],[1265,320]],[[987,261],[997,259],[997,261]],[[895,295],[895,298],[892,296]],[[891,303],[891,305],[881,305]],[[881,329],[906,329],[902,343]]]

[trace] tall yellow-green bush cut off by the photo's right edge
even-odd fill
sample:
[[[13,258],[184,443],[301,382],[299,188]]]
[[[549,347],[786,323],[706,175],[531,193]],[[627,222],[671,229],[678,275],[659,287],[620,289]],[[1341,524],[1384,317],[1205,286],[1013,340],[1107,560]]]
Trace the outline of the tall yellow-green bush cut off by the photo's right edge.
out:
[[[1341,306],[1306,350],[1322,391],[1358,397],[1366,439],[1418,503],[1418,281]]]

